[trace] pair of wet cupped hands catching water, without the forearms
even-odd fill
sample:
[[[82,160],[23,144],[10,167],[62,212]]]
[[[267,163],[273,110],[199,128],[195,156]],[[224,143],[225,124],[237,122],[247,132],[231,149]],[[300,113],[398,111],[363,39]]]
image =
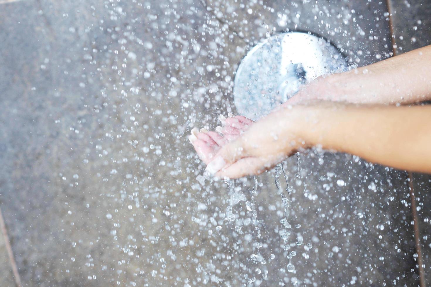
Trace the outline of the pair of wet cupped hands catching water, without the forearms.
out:
[[[324,77],[315,79],[256,123],[229,113],[227,118],[220,115],[222,126],[216,127],[215,131],[194,128],[189,140],[207,164],[206,170],[215,176],[229,178],[260,174],[294,153],[300,145],[295,136],[277,139],[282,129],[275,127],[286,122],[291,105],[320,100],[326,87],[323,83]]]

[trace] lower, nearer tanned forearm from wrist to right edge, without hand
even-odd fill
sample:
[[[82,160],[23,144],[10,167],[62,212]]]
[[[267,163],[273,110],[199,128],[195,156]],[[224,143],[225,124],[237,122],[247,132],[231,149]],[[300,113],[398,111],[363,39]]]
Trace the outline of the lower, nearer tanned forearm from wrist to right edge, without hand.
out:
[[[292,111],[294,130],[308,146],[431,173],[431,132],[426,124],[431,122],[431,107],[317,105]]]

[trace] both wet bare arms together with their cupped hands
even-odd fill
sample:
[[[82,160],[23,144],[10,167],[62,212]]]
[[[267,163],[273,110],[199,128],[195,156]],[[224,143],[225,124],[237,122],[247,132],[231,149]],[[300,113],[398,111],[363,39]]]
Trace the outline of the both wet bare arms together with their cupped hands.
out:
[[[209,173],[229,178],[262,173],[313,147],[431,173],[431,133],[426,128],[431,107],[406,106],[431,99],[430,75],[427,46],[319,77],[256,123],[243,116],[220,116],[222,126],[193,129],[189,140]]]

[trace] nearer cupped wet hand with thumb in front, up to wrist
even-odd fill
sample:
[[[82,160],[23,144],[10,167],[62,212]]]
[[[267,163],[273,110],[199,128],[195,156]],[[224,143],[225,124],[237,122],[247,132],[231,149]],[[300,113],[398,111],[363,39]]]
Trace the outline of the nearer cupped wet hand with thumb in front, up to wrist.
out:
[[[220,145],[215,148],[214,144],[206,144],[204,157],[202,143],[197,140],[192,143],[197,151],[201,149],[198,154],[208,164],[206,170],[215,176],[239,178],[260,174],[300,148],[306,148],[306,143],[297,135],[295,114],[297,112],[279,108],[230,142],[223,141],[223,137],[217,134]],[[206,135],[208,133],[213,135],[213,132]],[[197,136],[202,138],[200,134]]]

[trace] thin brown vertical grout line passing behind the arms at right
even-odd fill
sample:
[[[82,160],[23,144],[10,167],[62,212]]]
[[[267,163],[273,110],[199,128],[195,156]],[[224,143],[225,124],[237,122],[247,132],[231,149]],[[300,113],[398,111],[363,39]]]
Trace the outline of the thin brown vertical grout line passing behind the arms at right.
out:
[[[397,42],[395,40],[394,23],[392,22],[391,0],[386,0],[386,6],[387,6],[387,12],[389,12],[389,31],[390,31],[390,43],[392,44],[392,53],[393,53],[393,56],[397,56]],[[407,171],[407,176],[408,176],[411,210],[412,210],[412,217],[413,217],[413,229],[415,232],[415,247],[416,247],[416,253],[418,254],[417,263],[419,266],[419,268],[418,268],[419,286],[425,287],[425,272],[424,272],[424,268],[423,268],[421,239],[419,238],[419,236],[420,236],[419,221],[418,221],[418,216],[416,213],[416,198],[415,198],[415,191],[413,188],[413,174],[412,174],[412,172]]]

